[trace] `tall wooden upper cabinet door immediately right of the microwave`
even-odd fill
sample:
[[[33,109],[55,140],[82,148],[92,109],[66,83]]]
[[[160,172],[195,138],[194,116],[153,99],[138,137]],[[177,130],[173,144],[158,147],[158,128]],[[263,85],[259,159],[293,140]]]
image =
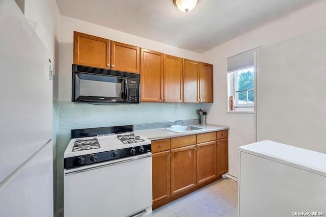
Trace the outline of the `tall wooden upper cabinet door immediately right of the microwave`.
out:
[[[162,101],[163,70],[163,53],[141,48],[141,101]]]

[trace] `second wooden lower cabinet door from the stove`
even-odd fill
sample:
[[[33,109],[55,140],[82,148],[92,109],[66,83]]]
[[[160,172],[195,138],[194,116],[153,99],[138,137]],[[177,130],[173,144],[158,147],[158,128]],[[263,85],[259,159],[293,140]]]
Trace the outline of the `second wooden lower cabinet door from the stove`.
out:
[[[171,196],[196,186],[196,145],[171,150]]]

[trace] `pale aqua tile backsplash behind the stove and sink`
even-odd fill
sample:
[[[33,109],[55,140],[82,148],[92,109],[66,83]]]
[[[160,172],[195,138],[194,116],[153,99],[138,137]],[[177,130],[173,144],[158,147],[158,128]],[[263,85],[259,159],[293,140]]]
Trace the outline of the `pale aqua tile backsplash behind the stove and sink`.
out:
[[[71,129],[199,119],[200,107],[198,103],[93,105],[59,101],[57,207],[63,207],[63,153],[70,141]]]

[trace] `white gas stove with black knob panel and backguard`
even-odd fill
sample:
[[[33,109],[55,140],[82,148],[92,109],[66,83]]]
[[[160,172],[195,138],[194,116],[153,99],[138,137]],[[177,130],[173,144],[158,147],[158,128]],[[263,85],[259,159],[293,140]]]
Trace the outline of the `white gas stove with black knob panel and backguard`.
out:
[[[121,133],[127,129],[132,125],[71,130],[64,153],[65,217],[152,215],[151,141]]]

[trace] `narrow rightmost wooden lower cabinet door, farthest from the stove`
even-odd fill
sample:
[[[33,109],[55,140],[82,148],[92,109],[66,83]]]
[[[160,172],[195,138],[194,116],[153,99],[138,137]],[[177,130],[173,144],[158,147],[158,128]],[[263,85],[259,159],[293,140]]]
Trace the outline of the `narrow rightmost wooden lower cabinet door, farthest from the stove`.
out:
[[[228,166],[228,139],[218,140],[218,176],[221,177],[229,170]]]

